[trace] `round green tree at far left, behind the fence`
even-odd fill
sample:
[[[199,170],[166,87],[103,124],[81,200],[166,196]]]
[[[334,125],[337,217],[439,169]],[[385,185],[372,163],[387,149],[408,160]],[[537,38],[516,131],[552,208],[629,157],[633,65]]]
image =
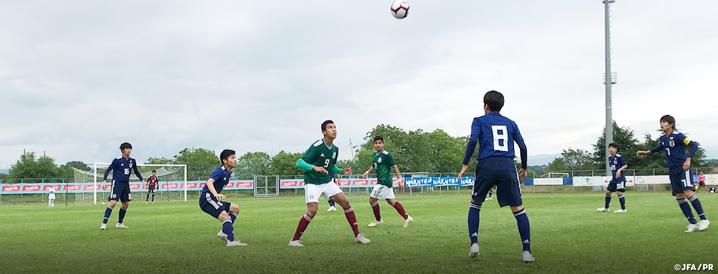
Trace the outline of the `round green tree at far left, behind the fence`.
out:
[[[40,182],[42,179],[65,178],[65,172],[57,168],[54,159],[48,156],[35,159],[35,153],[28,152],[10,167],[9,176],[24,179],[24,182]]]

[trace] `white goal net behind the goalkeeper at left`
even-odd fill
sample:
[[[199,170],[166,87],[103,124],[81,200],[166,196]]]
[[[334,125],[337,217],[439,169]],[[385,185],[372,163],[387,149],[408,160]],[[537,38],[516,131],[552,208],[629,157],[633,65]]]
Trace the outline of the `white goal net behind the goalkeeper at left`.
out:
[[[75,202],[79,204],[97,204],[98,202],[107,202],[110,195],[110,186],[112,183],[112,171],[107,176],[106,188],[102,188],[102,177],[110,164],[92,164],[90,170],[73,168],[75,173],[75,183],[93,184],[94,187],[83,188],[88,189],[85,192],[75,194]],[[138,164],[137,170],[142,174],[145,183],[137,178],[134,172],[130,174],[130,193],[134,202],[144,201],[147,194],[146,184],[149,182],[149,176],[152,171],[157,171],[158,189],[154,193],[154,202],[187,202],[187,165],[184,164]],[[152,195],[149,195],[151,199]]]

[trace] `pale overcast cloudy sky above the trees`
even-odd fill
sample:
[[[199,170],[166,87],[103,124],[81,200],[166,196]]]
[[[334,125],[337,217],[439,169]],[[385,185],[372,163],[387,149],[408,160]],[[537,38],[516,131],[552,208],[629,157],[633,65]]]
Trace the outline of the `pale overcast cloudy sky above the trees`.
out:
[[[530,155],[590,149],[605,123],[600,0],[4,1],[0,169],[22,151],[109,162],[182,148],[340,158],[378,124],[470,133],[504,93]],[[718,157],[718,1],[612,5],[614,118],[658,118]],[[531,163],[529,163],[531,164]]]

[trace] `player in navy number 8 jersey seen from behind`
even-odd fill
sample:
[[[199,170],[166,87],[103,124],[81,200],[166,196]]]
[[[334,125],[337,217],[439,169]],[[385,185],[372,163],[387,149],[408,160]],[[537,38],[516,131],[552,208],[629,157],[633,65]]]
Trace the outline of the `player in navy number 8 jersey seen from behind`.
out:
[[[496,186],[496,199],[498,199],[499,206],[508,205],[511,207],[513,217],[516,217],[518,234],[521,235],[521,244],[523,245],[523,261],[530,263],[534,260],[531,255],[531,227],[528,224],[526,210],[523,209],[521,186],[518,182],[519,178],[526,178],[528,154],[516,123],[499,114],[503,103],[503,95],[498,91],[491,90],[484,95],[485,115],[474,118],[471,125],[471,136],[464,155],[464,165],[459,172],[459,178],[457,178],[461,181],[461,176],[466,173],[469,168],[469,160],[478,143],[479,155],[468,217],[471,240],[469,256],[476,258],[479,255],[479,212],[486,193]],[[513,164],[513,159],[516,157],[513,149],[514,142],[521,150],[521,169],[518,171],[516,171],[516,165]]]

